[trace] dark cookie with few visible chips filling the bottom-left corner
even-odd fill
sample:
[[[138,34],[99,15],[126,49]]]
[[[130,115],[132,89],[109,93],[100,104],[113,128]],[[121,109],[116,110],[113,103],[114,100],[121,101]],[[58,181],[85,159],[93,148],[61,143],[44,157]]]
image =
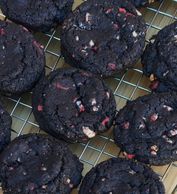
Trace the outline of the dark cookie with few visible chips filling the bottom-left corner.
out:
[[[0,162],[4,194],[70,194],[82,177],[83,165],[67,145],[46,135],[16,138]]]

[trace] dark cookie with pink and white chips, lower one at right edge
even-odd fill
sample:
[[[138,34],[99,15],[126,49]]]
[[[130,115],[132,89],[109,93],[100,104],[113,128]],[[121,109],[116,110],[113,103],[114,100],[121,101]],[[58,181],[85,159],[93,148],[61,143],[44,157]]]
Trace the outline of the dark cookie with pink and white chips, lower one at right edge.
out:
[[[177,93],[128,102],[117,115],[114,139],[127,158],[153,165],[177,160]]]

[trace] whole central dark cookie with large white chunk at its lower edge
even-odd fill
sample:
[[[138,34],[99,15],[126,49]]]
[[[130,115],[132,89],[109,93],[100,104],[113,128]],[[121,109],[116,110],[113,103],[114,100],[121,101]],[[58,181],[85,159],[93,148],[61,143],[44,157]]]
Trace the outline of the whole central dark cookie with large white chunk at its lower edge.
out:
[[[44,131],[70,142],[83,142],[108,130],[116,103],[104,81],[69,68],[53,71],[35,88],[33,112]]]

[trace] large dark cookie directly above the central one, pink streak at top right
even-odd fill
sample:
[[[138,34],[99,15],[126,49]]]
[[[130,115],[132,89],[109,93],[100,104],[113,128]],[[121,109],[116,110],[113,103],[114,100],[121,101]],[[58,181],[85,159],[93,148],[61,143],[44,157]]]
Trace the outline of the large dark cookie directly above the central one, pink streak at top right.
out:
[[[126,0],[89,0],[65,20],[61,51],[74,67],[111,76],[132,67],[145,43],[146,25]]]

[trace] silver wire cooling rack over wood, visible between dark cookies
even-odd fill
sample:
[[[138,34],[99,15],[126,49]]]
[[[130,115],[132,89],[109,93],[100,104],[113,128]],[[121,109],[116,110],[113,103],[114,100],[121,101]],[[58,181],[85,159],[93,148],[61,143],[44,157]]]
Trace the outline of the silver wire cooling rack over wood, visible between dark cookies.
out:
[[[81,0],[75,0],[74,7],[81,2]],[[141,12],[147,23],[146,42],[149,42],[152,35],[177,20],[177,1],[164,0],[161,3],[155,3],[141,9]],[[0,19],[4,19],[1,13]],[[48,34],[35,34],[35,36],[45,46],[47,73],[66,65],[59,49],[59,29]],[[135,65],[134,69],[128,70],[126,73],[117,75],[114,78],[106,79],[106,82],[114,91],[117,110],[121,109],[128,100],[133,100],[150,92],[148,88],[149,80],[143,76],[140,62]],[[26,93],[19,98],[7,98],[5,103],[13,118],[12,139],[26,133],[43,133],[33,117],[31,93]],[[78,155],[84,164],[83,175],[103,160],[117,156],[123,157],[120,149],[114,144],[111,130],[98,135],[86,144],[72,144],[71,150]],[[166,193],[177,194],[177,162],[160,167],[152,166],[152,168],[164,182]],[[74,193],[76,194],[77,190],[73,191]]]

